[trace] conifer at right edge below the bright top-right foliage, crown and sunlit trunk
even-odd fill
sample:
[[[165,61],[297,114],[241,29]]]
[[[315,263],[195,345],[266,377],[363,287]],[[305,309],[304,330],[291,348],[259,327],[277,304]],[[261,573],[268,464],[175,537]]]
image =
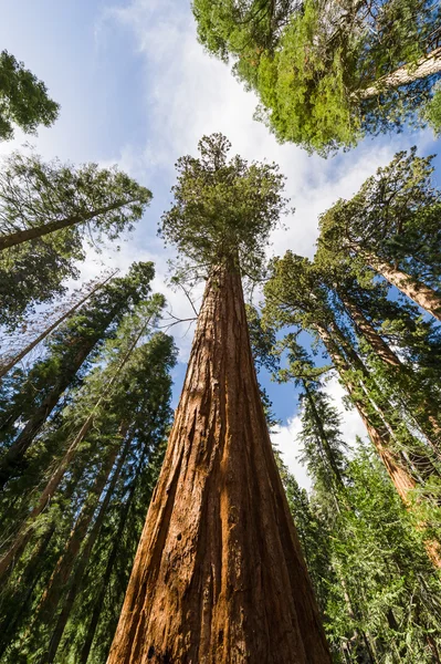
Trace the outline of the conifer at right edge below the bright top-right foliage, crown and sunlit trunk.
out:
[[[370,266],[440,320],[440,193],[432,170],[431,157],[417,157],[416,148],[398,153],[351,200],[322,216],[317,257],[355,274]]]

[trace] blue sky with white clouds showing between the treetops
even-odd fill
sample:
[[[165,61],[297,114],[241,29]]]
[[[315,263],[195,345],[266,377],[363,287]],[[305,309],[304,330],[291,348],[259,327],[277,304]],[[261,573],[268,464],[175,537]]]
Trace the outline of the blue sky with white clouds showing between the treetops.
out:
[[[378,166],[398,149],[417,144],[420,153],[439,152],[429,132],[366,139],[357,149],[332,159],[308,156],[293,145],[279,145],[267,129],[252,120],[256,100],[231,76],[229,68],[207,55],[196,40],[189,0],[21,0],[3,3],[1,49],[24,61],[48,85],[62,108],[60,120],[39,136],[17,134],[0,144],[0,153],[24,142],[45,158],[74,163],[118,164],[148,186],[154,201],[137,230],[122,245],[101,256],[90,253],[83,277],[104,266],[126,269],[134,260],[154,260],[155,287],[165,292],[174,314],[191,315],[182,294],[167,287],[167,259],[156,236],[157,221],[171,201],[174,164],[196,154],[203,134],[224,133],[232,151],[248,159],[280,164],[287,177],[286,193],[296,208],[277,229],[269,255],[287,248],[312,257],[317,217],[337,198],[348,198]],[[438,159],[437,159],[438,162]],[[439,177],[437,177],[439,179]],[[175,326],[180,349],[175,375],[175,401],[185,373],[192,330]],[[295,435],[300,429],[292,385],[265,386],[282,419],[275,442],[303,486]],[[329,393],[340,404],[343,390],[334,380]],[[344,432],[350,442],[365,432],[354,412],[345,413]]]

